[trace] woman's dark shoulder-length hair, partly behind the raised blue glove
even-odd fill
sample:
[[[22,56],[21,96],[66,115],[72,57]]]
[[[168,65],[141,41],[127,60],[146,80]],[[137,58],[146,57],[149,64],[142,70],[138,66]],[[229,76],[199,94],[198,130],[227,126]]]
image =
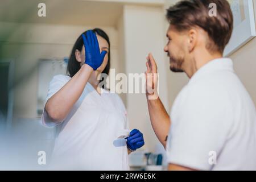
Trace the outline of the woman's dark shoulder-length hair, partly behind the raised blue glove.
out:
[[[109,42],[109,36],[106,34],[106,32],[104,32],[100,28],[94,28],[92,31],[94,33],[96,33],[97,35],[101,36],[102,38],[104,38],[106,40],[106,42],[108,42],[108,44],[109,44],[108,64],[106,65],[106,68],[104,69],[104,71],[102,71],[102,73],[106,73],[107,75],[109,75],[109,69],[110,69],[110,42]],[[85,31],[82,34],[84,34],[86,36],[86,32],[87,31]],[[82,51],[82,46],[84,46],[84,41],[82,40],[82,34],[79,36],[79,38],[77,38],[76,43],[73,46],[71,54],[69,56],[68,67],[67,67],[67,75],[70,76],[70,77],[73,77],[74,75],[76,75],[76,73],[81,68],[79,61],[76,60],[76,49],[79,50],[79,51]],[[101,81],[103,81],[103,80],[101,80]]]

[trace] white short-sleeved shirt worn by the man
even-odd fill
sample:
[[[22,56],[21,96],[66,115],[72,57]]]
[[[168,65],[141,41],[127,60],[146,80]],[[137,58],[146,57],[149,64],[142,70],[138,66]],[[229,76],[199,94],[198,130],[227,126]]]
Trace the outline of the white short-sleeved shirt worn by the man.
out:
[[[216,59],[199,69],[177,96],[170,117],[168,163],[256,170],[255,106],[232,60]]]

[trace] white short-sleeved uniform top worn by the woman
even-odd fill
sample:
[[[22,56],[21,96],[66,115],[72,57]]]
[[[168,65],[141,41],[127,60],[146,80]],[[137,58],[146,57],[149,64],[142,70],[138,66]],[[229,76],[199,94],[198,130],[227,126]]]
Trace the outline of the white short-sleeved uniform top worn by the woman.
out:
[[[57,75],[49,84],[46,101],[71,77]],[[55,126],[44,111],[42,122]],[[89,82],[67,118],[57,125],[49,169],[129,170],[127,147],[117,142],[118,133],[128,129],[127,114],[117,94],[102,89],[101,95]]]

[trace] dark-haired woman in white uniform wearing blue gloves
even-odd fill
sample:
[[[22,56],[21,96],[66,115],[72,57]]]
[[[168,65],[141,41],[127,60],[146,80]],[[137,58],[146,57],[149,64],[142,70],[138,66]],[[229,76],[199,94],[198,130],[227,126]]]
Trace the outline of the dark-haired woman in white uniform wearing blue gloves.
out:
[[[139,130],[128,130],[119,96],[99,87],[97,77],[109,68],[108,35],[96,28],[79,36],[68,76],[53,77],[42,115],[44,125],[59,130],[49,169],[128,170],[128,154],[144,145]]]

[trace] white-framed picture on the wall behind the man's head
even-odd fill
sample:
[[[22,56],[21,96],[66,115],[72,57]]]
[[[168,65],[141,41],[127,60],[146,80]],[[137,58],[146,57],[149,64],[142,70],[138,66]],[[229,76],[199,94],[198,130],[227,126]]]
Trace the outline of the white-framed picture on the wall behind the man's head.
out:
[[[256,36],[253,0],[228,0],[234,17],[232,37],[224,50],[230,56]]]

